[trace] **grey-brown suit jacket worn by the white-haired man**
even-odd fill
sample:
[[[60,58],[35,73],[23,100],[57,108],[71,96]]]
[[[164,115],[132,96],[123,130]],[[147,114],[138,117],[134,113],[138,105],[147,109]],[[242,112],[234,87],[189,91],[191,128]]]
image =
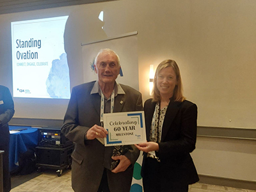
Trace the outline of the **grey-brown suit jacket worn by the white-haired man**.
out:
[[[72,154],[72,188],[76,192],[97,191],[104,168],[109,168],[113,147],[104,147],[98,140],[84,140],[84,134],[97,124],[100,125],[100,95],[93,94],[95,81],[84,83],[72,89],[67,113],[61,132],[76,143]],[[115,97],[113,113],[125,111],[141,111],[141,93],[129,86],[120,84],[124,95]],[[122,102],[121,102],[122,101]],[[125,156],[132,165],[125,172],[112,173],[108,170],[108,183],[111,192],[129,192],[131,187],[133,164],[140,151],[129,146]]]

